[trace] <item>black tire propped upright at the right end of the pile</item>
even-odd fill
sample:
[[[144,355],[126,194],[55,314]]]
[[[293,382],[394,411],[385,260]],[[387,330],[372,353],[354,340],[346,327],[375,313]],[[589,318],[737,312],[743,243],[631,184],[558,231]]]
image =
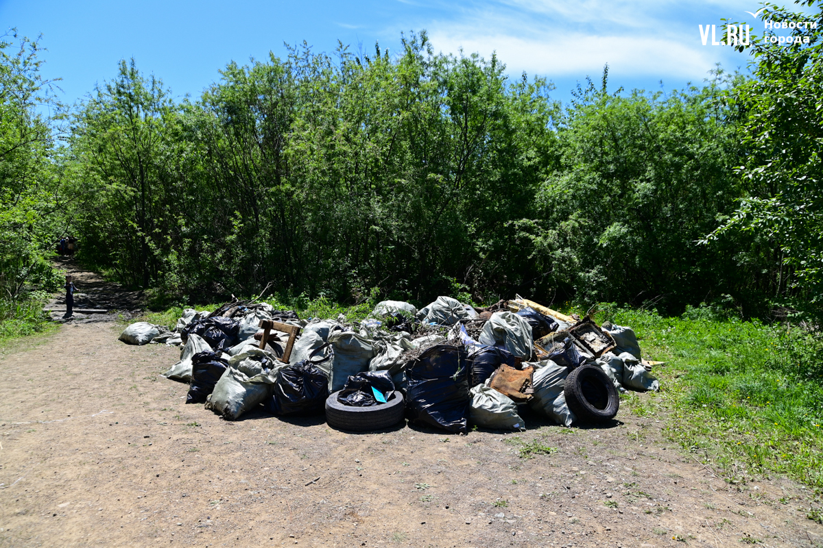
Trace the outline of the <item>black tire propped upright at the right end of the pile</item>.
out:
[[[615,417],[620,398],[615,385],[599,367],[579,366],[566,377],[566,405],[580,421],[602,422]]]

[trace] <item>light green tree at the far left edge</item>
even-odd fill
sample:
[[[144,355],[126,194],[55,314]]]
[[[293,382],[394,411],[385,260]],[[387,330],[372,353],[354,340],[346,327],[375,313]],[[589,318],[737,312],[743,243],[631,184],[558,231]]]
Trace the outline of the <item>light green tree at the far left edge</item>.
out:
[[[0,320],[15,310],[3,302],[25,298],[31,284],[54,287],[44,257],[57,235],[61,200],[53,156],[63,107],[55,81],[40,73],[39,41],[15,45],[11,32],[0,38]]]

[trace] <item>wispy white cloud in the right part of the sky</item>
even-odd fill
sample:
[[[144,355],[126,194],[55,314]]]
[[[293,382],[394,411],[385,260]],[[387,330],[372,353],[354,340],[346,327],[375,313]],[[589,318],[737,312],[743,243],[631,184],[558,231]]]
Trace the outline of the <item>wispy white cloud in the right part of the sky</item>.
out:
[[[612,74],[700,80],[732,51],[703,46],[698,24],[719,27],[721,17],[754,6],[745,0],[722,8],[713,0],[501,0],[432,21],[428,29],[436,50],[462,47],[486,58],[496,52],[510,74],[596,76],[608,63]]]

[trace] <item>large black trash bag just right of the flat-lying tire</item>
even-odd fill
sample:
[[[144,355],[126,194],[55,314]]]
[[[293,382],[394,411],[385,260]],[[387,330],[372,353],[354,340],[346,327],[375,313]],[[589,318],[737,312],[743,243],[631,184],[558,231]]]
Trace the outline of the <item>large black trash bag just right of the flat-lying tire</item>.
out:
[[[406,410],[410,421],[455,434],[467,433],[472,402],[464,348],[435,345],[407,367]]]

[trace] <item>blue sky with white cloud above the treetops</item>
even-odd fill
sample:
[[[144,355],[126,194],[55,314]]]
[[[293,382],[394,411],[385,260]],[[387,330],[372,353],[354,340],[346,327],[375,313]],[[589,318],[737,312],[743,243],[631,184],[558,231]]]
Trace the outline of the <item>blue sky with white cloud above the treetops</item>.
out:
[[[598,81],[609,64],[610,82],[626,89],[672,90],[701,83],[716,62],[746,69],[748,56],[732,48],[704,46],[698,25],[723,18],[762,23],[746,12],[756,2],[560,2],[504,0],[361,0],[360,2],[57,2],[0,0],[0,33],[16,27],[31,38],[42,33],[46,76],[60,76],[69,104],[109,80],[121,58],[153,72],[174,95],[201,91],[219,79],[227,62],[285,56],[283,43],[306,40],[332,53],[339,39],[357,51],[374,42],[398,52],[401,32],[427,30],[444,53],[493,51],[518,77],[522,71],[556,85],[567,101],[578,81]],[[661,86],[660,81],[663,81]]]

